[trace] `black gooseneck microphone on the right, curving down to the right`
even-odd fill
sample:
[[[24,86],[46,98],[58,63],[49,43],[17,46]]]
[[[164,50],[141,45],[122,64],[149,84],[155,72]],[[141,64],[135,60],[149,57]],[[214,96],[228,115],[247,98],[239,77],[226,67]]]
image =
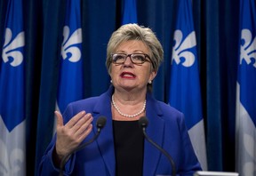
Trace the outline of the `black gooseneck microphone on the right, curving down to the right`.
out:
[[[163,154],[164,156],[166,156],[168,158],[168,160],[170,161],[171,163],[171,166],[172,166],[172,176],[175,176],[176,175],[176,168],[175,168],[175,164],[174,164],[174,161],[172,159],[172,156],[170,156],[167,151],[164,150],[164,148],[161,148],[159,145],[156,144],[156,142],[154,142],[153,140],[151,140],[149,137],[148,137],[148,134],[146,133],[146,128],[148,126],[148,118],[146,116],[142,116],[140,117],[140,120],[139,120],[139,125],[140,125],[140,128],[142,128],[142,132],[146,138],[146,140],[148,140],[149,143],[151,143],[154,147],[156,147],[157,149],[159,149]]]

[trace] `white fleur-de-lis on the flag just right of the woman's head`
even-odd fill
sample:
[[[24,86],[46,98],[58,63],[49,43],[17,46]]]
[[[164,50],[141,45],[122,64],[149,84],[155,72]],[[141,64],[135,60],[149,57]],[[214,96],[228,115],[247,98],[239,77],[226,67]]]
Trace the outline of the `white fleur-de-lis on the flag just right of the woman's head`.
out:
[[[191,32],[181,43],[182,38],[182,31],[175,30],[175,45],[172,47],[172,61],[174,60],[177,64],[180,64],[180,58],[184,58],[185,60],[181,64],[184,67],[191,67],[195,62],[195,54],[193,52],[189,52],[188,49],[196,46],[195,31]]]

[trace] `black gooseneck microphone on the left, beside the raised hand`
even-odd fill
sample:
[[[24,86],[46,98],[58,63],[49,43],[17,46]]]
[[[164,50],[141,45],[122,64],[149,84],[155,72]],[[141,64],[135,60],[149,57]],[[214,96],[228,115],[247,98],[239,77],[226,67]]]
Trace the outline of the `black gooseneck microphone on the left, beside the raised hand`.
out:
[[[59,176],[63,175],[63,167],[64,165],[67,163],[69,156],[71,156],[72,154],[76,153],[78,150],[85,148],[86,146],[88,146],[89,144],[91,144],[94,140],[96,140],[101,132],[101,129],[105,126],[107,122],[107,118],[105,116],[100,116],[96,122],[96,126],[97,126],[97,133],[92,137],[91,140],[85,142],[84,144],[78,146],[77,148],[73,149],[68,155],[64,156],[61,159],[60,162],[60,174]]]

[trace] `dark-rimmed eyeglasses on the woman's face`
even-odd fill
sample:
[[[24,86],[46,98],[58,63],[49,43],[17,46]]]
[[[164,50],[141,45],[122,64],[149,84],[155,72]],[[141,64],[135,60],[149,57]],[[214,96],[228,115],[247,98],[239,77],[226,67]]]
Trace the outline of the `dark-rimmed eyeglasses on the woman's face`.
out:
[[[124,64],[125,60],[130,57],[133,64],[143,64],[144,62],[150,62],[150,58],[148,54],[144,53],[132,53],[132,54],[124,54],[124,53],[116,53],[111,54],[112,62],[115,64]],[[147,58],[149,60],[147,60]]]

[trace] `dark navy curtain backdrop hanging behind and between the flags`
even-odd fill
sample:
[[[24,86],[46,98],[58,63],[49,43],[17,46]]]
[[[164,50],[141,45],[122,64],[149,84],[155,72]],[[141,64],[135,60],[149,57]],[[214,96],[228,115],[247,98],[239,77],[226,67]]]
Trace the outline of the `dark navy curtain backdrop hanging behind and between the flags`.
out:
[[[4,25],[9,16],[8,2],[0,1],[1,56]],[[153,94],[156,100],[166,103],[170,97],[172,36],[176,28],[178,2],[138,0],[136,3],[138,23],[152,28],[164,47],[164,63],[153,82]],[[84,98],[98,96],[109,86],[108,71],[104,65],[106,48],[109,36],[121,24],[123,4],[123,0],[81,0]],[[22,1],[21,7],[26,29],[24,103],[29,151],[26,159],[28,175],[33,175],[38,160],[52,140],[66,0],[26,0]],[[208,168],[214,171],[235,171],[239,0],[193,0],[192,7],[207,134]],[[1,59],[0,64],[3,63]]]

